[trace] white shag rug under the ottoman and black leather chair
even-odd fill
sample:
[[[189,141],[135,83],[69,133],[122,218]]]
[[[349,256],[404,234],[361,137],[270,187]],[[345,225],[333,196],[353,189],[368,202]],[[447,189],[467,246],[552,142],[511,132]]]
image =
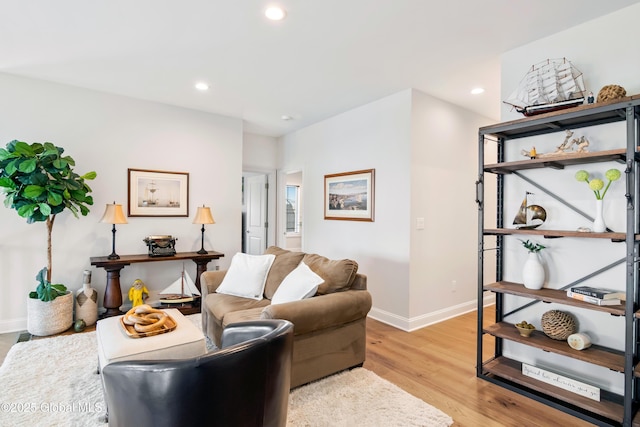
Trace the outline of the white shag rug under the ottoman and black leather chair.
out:
[[[189,316],[191,317],[191,316]],[[194,323],[199,322],[192,319]],[[0,426],[106,427],[96,334],[15,344],[0,366]],[[290,427],[450,426],[451,417],[364,368],[294,389]]]

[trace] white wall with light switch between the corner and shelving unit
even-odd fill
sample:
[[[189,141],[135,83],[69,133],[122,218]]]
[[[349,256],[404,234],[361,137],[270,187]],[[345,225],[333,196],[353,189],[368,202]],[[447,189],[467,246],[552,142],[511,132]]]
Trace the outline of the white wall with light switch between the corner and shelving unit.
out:
[[[476,308],[478,128],[491,119],[413,91],[410,329]],[[424,229],[418,229],[424,218]]]

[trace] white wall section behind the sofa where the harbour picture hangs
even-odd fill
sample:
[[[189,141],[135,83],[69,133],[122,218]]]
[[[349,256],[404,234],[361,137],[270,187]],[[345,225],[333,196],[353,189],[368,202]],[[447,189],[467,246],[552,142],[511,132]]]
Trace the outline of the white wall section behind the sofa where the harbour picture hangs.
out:
[[[303,250],[351,258],[368,276],[376,309],[409,316],[411,90],[282,138],[285,171],[302,171]],[[324,175],[375,169],[375,221],[324,219]]]

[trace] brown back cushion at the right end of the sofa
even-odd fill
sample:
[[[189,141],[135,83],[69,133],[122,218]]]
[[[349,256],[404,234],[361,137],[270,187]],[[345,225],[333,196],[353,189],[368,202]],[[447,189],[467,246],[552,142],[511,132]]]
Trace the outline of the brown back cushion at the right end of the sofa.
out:
[[[324,279],[318,286],[319,295],[349,289],[358,272],[358,263],[350,259],[330,260],[317,254],[305,254],[302,261]]]

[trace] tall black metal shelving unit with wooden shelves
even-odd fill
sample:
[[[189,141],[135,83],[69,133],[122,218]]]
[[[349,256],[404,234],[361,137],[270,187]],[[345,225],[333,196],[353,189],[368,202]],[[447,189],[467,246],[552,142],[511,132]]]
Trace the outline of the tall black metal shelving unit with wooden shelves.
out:
[[[560,132],[567,129],[578,129],[588,126],[602,125],[614,122],[626,123],[626,145],[616,150],[593,152],[588,154],[567,154],[557,157],[543,157],[531,160],[505,162],[505,144],[509,140]],[[492,126],[480,128],[478,137],[478,180],[476,182],[476,203],[478,205],[478,324],[477,324],[477,362],[476,374],[479,378],[500,385],[514,392],[528,396],[551,407],[572,414],[596,425],[610,426],[640,426],[638,406],[640,402],[640,365],[638,355],[640,350],[640,290],[638,273],[640,206],[638,164],[640,162],[640,96],[631,96],[603,104],[591,104],[561,112],[514,120]],[[494,140],[497,144],[497,163],[485,164],[485,141]],[[622,233],[579,233],[568,230],[516,230],[506,228],[504,223],[504,191],[506,174],[516,175],[527,181],[534,182],[519,173],[521,170],[534,168],[563,169],[567,165],[616,161],[624,164],[626,185],[626,230]],[[496,228],[487,229],[485,223],[485,174],[496,174],[497,218]],[[547,189],[540,190],[553,196],[568,208],[578,211],[569,203],[561,200]],[[524,288],[521,284],[503,281],[504,267],[504,237],[517,234],[521,236],[544,236],[549,238],[571,239],[607,239],[615,244],[625,245],[625,257],[600,271],[615,265],[625,264],[626,294],[624,305],[601,307],[566,297],[563,289],[542,289],[540,291]],[[495,236],[495,248],[485,247],[485,238]],[[488,250],[495,250],[496,271],[495,283],[485,283],[484,257]],[[576,267],[582,268],[582,267]],[[592,277],[600,271],[591,272],[586,277]],[[583,278],[584,279],[584,278]],[[484,319],[485,292],[491,291],[496,297],[495,323],[487,326]],[[531,300],[525,306],[536,302],[554,302],[568,306],[605,312],[624,316],[624,351],[616,351],[600,346],[592,346],[588,350],[571,352],[566,343],[558,343],[546,337],[542,332],[534,332],[529,339],[522,339],[512,325],[504,321],[504,299],[509,295],[517,295]],[[513,311],[511,312],[513,313]],[[489,334],[495,338],[492,357],[483,357],[483,336]],[[503,355],[504,340],[518,342],[546,352],[573,357],[587,363],[604,366],[624,376],[624,394],[616,395],[605,390],[601,391],[600,401],[593,401],[582,396],[564,391],[554,386],[524,376],[521,373],[521,362],[509,359]]]

